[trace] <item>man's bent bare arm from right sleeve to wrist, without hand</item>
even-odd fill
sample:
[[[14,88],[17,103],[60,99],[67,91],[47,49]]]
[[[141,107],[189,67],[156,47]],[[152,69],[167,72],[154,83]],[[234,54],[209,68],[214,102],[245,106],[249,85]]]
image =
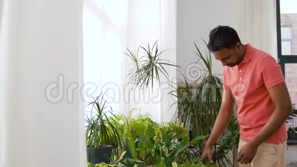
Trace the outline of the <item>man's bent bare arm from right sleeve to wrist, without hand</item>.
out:
[[[260,145],[279,130],[292,112],[291,99],[284,82],[268,89],[268,92],[276,108],[262,130],[250,141],[255,145]]]

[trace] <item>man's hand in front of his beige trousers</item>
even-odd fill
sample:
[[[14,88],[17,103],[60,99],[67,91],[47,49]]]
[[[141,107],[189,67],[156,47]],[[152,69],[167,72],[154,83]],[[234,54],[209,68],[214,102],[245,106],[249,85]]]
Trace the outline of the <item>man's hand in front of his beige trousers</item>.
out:
[[[241,164],[250,163],[256,155],[258,147],[258,145],[251,142],[246,143],[239,151],[238,162]]]

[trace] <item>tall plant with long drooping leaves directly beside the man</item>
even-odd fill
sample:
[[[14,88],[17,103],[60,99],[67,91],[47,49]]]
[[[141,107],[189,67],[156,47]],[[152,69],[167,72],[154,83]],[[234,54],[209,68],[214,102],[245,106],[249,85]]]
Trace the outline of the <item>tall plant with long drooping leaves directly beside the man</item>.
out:
[[[204,41],[204,40],[203,40]],[[205,43],[205,41],[204,41]],[[206,70],[204,75],[197,78],[194,82],[194,87],[189,87],[189,84],[184,77],[184,83],[179,88],[175,88],[172,95],[178,97],[178,101],[173,105],[177,105],[176,121],[184,123],[185,127],[189,129],[190,138],[195,138],[201,135],[209,135],[215,124],[217,115],[219,113],[222,102],[223,83],[218,74],[212,73],[211,54],[208,53],[203,56],[197,45],[194,43],[198,60],[202,61]],[[205,45],[207,45],[205,43]],[[196,62],[196,63],[197,63]],[[198,81],[201,80],[199,84]],[[198,85],[198,87],[195,87]],[[200,156],[204,150],[204,142],[198,143],[197,152],[195,156]],[[217,148],[213,148],[214,160],[222,166],[230,166],[230,160],[226,153]]]

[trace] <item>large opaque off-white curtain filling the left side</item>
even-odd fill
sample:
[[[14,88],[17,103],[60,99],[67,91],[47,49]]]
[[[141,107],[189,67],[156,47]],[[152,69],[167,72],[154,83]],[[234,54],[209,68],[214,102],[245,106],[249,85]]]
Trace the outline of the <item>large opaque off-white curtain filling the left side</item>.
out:
[[[86,166],[82,0],[8,0],[3,7],[0,164]]]

